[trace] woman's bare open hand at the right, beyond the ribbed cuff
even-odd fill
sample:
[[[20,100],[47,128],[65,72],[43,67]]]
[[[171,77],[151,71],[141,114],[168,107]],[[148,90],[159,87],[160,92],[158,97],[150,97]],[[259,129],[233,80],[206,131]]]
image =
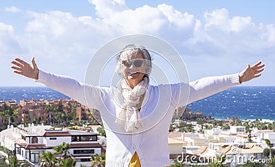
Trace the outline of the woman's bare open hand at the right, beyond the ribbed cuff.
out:
[[[248,65],[248,67],[246,67],[245,69],[243,69],[243,71],[241,71],[239,73],[240,83],[246,82],[248,80],[252,80],[254,78],[258,78],[259,76],[261,76],[261,72],[263,71],[263,67],[265,67],[265,65],[262,64],[261,61],[259,61],[258,63],[252,65],[251,67],[250,67],[250,65]]]

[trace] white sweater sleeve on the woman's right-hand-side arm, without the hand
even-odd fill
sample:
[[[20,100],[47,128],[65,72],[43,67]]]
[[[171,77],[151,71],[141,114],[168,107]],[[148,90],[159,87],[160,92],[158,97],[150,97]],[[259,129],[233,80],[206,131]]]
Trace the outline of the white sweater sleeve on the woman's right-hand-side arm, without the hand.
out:
[[[197,100],[201,100],[215,93],[219,93],[233,87],[240,85],[239,74],[230,74],[225,76],[209,76],[187,83],[180,83],[177,91],[173,91],[174,97],[178,98],[175,101],[175,106],[181,107],[190,104]],[[189,93],[186,95],[186,93]]]

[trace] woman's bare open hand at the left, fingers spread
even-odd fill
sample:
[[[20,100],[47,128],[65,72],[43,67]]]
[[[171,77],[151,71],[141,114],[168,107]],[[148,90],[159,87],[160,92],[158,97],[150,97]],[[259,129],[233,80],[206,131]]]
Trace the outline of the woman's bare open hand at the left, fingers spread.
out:
[[[11,68],[14,69],[14,73],[36,80],[39,79],[39,68],[34,61],[34,57],[32,58],[32,64],[26,63],[20,58],[14,58],[11,63],[13,64]]]

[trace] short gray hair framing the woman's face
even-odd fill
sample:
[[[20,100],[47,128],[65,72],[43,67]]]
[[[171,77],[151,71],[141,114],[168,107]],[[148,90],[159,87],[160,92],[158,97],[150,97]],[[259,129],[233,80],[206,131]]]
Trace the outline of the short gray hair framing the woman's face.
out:
[[[146,60],[145,61],[146,69],[145,69],[144,77],[149,76],[149,74],[152,71],[151,55],[144,46],[136,45],[136,44],[126,45],[122,49],[120,54],[118,54],[115,71],[117,71],[118,74],[120,74],[120,76],[123,76],[122,75],[122,60],[131,60],[137,53],[142,53],[143,58]]]

